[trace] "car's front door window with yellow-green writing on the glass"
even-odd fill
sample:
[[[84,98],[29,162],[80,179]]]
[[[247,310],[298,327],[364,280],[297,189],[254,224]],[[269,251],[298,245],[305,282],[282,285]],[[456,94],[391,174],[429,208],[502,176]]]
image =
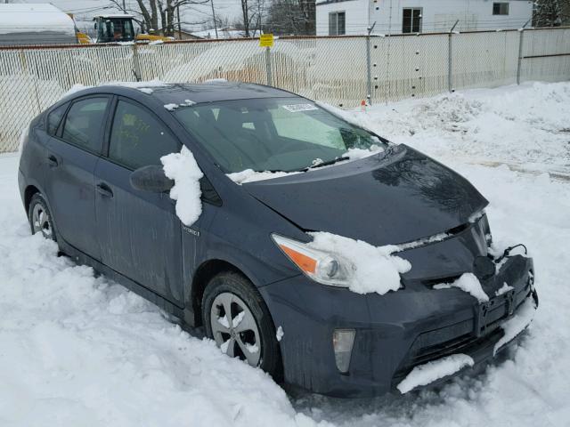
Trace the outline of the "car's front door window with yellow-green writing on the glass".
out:
[[[109,158],[129,169],[159,165],[160,157],[180,151],[180,143],[150,111],[118,101],[110,133]]]

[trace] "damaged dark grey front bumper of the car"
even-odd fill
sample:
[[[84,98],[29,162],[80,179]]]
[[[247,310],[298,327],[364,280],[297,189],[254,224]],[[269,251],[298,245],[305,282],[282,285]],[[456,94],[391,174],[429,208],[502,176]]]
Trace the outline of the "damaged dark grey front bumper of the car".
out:
[[[336,397],[371,397],[395,391],[414,367],[450,354],[467,354],[476,365],[493,359],[501,324],[527,298],[536,298],[532,259],[510,257],[493,282],[513,290],[486,307],[459,289],[419,283],[361,295],[297,276],[259,290],[275,327],[284,331],[285,383]],[[335,364],[331,337],[337,328],[356,330],[346,374]]]

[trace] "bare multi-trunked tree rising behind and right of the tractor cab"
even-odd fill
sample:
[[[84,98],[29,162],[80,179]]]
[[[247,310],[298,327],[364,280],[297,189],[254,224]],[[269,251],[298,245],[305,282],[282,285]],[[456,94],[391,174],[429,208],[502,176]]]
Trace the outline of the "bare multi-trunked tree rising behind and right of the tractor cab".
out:
[[[191,7],[197,4],[207,4],[210,0],[136,0],[134,8],[127,8],[123,0],[111,0],[118,9],[132,13],[135,20],[145,28],[161,33],[165,36],[174,36],[175,21],[179,8]]]

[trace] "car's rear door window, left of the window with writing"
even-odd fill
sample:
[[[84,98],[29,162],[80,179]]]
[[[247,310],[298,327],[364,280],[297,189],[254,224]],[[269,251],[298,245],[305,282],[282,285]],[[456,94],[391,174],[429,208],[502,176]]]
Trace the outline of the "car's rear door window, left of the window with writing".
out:
[[[102,127],[109,98],[96,97],[76,101],[65,118],[61,138],[82,149],[100,153]]]

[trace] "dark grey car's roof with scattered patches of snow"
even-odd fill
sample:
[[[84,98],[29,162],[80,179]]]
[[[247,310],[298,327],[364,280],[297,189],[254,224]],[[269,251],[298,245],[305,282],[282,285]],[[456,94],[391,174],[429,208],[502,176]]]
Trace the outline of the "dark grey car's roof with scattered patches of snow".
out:
[[[87,91],[81,91],[80,93],[76,93],[76,95],[87,93],[116,93],[125,96],[134,94],[141,95],[144,93],[164,105],[184,104],[188,103],[188,101],[200,103],[256,98],[298,97],[295,93],[289,93],[270,86],[225,81],[214,81],[203,84],[159,85],[157,82],[149,82],[148,85],[145,85],[144,82],[140,82],[126,83],[124,85],[102,85]]]

